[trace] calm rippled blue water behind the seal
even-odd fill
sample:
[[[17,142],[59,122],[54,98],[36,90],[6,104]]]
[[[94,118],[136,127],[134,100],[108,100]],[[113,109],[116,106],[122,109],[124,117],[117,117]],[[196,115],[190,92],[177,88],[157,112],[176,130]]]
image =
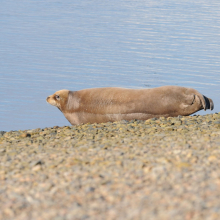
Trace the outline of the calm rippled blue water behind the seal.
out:
[[[193,87],[220,112],[219,60],[218,0],[2,1],[0,130],[69,125],[60,89]]]

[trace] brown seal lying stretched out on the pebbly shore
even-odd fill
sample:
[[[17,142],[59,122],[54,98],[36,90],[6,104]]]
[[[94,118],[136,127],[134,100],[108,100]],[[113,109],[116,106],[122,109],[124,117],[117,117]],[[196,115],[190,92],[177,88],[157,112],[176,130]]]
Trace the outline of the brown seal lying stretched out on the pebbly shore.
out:
[[[195,89],[180,86],[60,90],[46,100],[56,106],[72,125],[187,116],[214,108],[212,99]]]

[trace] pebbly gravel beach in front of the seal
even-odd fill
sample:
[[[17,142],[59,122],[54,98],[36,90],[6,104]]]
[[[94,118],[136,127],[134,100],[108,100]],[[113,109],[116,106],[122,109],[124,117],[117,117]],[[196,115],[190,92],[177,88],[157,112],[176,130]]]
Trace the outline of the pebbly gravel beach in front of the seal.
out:
[[[220,113],[1,131],[0,219],[220,219]]]

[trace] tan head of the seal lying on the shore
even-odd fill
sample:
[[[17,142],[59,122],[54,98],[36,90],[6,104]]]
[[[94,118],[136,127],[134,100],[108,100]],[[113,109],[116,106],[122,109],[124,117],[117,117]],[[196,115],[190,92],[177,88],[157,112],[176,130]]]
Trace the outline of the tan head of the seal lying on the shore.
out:
[[[49,104],[56,106],[58,109],[60,109],[60,111],[63,111],[68,101],[68,96],[69,90],[63,89],[55,92],[53,95],[48,96],[46,101]]]

